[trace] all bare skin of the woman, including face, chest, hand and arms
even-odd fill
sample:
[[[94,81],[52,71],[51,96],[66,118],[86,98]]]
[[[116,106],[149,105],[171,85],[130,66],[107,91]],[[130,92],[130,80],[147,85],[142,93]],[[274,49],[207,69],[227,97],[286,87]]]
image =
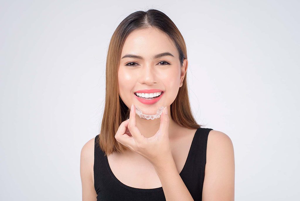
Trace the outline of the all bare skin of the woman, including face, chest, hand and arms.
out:
[[[174,57],[164,56],[155,60],[151,59],[153,55],[163,52],[170,52]],[[192,200],[179,172],[186,161],[196,130],[180,127],[170,118],[170,105],[175,100],[179,87],[182,86],[187,71],[187,60],[184,60],[181,67],[179,54],[173,42],[167,35],[153,28],[131,33],[125,41],[121,58],[125,54],[136,54],[142,56],[143,59],[120,60],[118,84],[123,102],[129,108],[132,104],[139,106],[145,114],[155,114],[158,107],[166,106],[168,114],[166,116],[162,114],[161,118],[155,120],[146,120],[135,115],[134,110],[131,111],[130,120],[122,122],[115,136],[117,141],[130,147],[131,151],[125,155],[108,156],[110,167],[114,175],[128,186],[137,188],[163,186],[166,200]],[[161,65],[166,64],[161,63],[162,61],[167,61],[170,65]],[[126,66],[129,62],[135,62],[131,63],[134,66]],[[165,91],[161,100],[153,105],[143,105],[133,93],[140,89],[152,88]],[[164,122],[164,120],[167,121]],[[131,126],[128,128],[128,125]],[[128,135],[128,131],[132,136]],[[147,138],[152,139],[151,142],[154,144],[147,147],[148,143],[140,143],[146,142]],[[153,141],[153,139],[156,140]],[[96,200],[97,196],[93,172],[94,141],[95,138],[89,140],[81,150],[82,200]],[[152,146],[164,148],[162,149],[164,154],[159,155],[154,150],[151,151]],[[160,161],[168,162],[161,163]],[[137,174],[129,174],[129,172]],[[234,172],[234,151],[231,139],[223,132],[210,131],[202,200],[234,200]],[[145,176],[140,177],[141,174]],[[142,186],[144,181],[152,182],[147,182],[147,185]],[[172,181],[172,186],[170,181]]]

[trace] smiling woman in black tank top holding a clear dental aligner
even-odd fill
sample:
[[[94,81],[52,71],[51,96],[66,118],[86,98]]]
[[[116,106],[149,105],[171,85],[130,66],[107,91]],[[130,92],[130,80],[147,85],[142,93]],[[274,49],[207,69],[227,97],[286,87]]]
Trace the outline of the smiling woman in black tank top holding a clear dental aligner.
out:
[[[82,200],[234,200],[231,139],[196,123],[187,66],[184,39],[161,11],[119,24],[101,132],[81,151]]]

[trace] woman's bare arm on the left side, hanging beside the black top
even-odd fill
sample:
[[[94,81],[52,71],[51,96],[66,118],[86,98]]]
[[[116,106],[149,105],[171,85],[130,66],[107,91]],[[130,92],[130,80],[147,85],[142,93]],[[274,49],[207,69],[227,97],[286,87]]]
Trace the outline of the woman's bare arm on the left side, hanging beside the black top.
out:
[[[80,153],[80,177],[82,183],[82,201],[97,200],[93,183],[95,138],[89,140]]]

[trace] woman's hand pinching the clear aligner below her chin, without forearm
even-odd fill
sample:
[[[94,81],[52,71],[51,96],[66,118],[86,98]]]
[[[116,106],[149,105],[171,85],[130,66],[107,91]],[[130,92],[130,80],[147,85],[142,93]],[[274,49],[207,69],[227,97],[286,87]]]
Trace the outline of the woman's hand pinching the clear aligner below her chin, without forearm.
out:
[[[167,107],[164,109],[167,110]],[[163,165],[166,159],[168,159],[167,157],[172,157],[169,140],[170,120],[169,116],[164,113],[165,110],[161,114],[161,123],[156,134],[150,138],[146,138],[135,125],[136,113],[135,106],[132,104],[129,119],[122,122],[119,126],[115,135],[116,140],[142,155],[154,166]]]

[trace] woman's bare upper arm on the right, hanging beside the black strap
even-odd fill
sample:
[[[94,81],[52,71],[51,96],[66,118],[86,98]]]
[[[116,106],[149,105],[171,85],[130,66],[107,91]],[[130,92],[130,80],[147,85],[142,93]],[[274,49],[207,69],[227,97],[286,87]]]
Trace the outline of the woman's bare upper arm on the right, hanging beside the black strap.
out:
[[[232,141],[225,133],[211,130],[207,141],[202,200],[234,201],[234,177]]]

